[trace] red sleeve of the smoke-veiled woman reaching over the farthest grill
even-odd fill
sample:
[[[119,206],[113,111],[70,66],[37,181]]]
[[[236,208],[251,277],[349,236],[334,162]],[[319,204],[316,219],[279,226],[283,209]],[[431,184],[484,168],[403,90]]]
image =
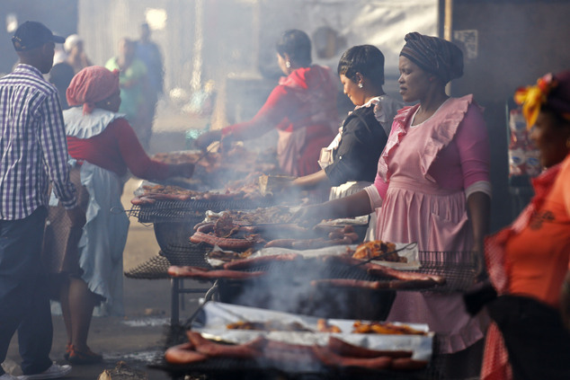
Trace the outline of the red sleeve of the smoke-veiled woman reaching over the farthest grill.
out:
[[[254,119],[223,128],[222,136],[230,133],[235,136],[254,136],[268,132],[275,128],[287,115],[297,110],[299,105],[297,96],[290,93],[285,86],[278,85],[273,89],[261,110],[257,111]]]

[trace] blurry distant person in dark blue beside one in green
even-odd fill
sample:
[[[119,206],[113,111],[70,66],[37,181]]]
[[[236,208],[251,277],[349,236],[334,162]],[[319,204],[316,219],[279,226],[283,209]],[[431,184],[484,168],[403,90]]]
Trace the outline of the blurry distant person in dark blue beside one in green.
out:
[[[145,22],[140,25],[140,38],[137,41],[136,57],[143,61],[147,66],[147,127],[152,130],[153,120],[156,114],[156,102],[158,97],[163,93],[165,69],[163,66],[163,57],[156,42],[150,40],[150,28]]]

